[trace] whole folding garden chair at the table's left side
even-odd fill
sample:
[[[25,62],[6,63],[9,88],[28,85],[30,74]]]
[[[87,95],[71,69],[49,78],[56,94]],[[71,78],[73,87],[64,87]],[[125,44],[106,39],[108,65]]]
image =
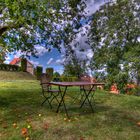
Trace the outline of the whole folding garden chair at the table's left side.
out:
[[[50,108],[52,108],[52,101],[54,99],[56,99],[56,101],[59,103],[58,100],[58,95],[60,93],[59,90],[56,89],[52,89],[51,85],[49,85],[49,82],[51,81],[51,77],[45,73],[43,73],[40,77],[40,85],[42,87],[42,94],[43,97],[45,98],[45,100],[42,102],[42,106],[43,104],[47,101],[50,105]]]

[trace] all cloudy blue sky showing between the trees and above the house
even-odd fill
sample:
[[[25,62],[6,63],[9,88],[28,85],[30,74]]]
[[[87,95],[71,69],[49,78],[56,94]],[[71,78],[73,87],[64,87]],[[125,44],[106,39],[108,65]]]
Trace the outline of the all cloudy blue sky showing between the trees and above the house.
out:
[[[106,0],[87,0],[87,8],[86,8],[86,16],[92,15],[96,10],[99,9],[99,7],[105,2]],[[81,33],[87,34],[87,30],[89,29],[89,25],[84,25],[81,29]],[[76,36],[76,40],[74,40],[71,44],[74,44],[76,41],[79,41],[80,48],[76,48],[75,52],[78,57],[81,57],[80,59],[90,59],[92,57],[92,51],[90,47],[85,44],[86,36],[81,36],[81,33]],[[47,67],[53,67],[55,71],[62,74],[63,72],[63,61],[64,61],[64,51],[62,53],[58,52],[57,49],[52,49],[50,52],[48,52],[45,48],[41,46],[36,46],[38,50],[38,56],[39,58],[31,57],[30,61],[36,66],[40,65],[43,66],[44,70]],[[84,49],[85,52],[81,52],[80,50]],[[6,59],[6,63],[9,63],[13,58],[17,58],[20,56],[20,52],[17,52],[16,54],[9,54]]]

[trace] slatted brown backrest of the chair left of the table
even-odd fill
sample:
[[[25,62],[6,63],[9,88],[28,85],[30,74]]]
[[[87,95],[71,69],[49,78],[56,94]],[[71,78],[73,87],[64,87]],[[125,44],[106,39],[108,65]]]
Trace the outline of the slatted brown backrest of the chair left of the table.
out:
[[[46,73],[41,74],[40,84],[41,84],[43,90],[50,89],[50,85],[48,84],[50,81],[51,81],[51,79]]]

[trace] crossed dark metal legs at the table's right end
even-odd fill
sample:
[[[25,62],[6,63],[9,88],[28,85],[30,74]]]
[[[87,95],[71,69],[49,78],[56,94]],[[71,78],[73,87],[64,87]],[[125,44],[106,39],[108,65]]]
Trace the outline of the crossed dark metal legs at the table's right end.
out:
[[[90,93],[92,92],[92,90],[93,90],[93,88],[94,88],[94,85],[91,87],[91,89],[89,90],[89,92],[87,93],[86,92],[86,90],[85,89],[83,89],[84,90],[84,94],[85,94],[85,99],[84,99],[84,101],[82,102],[82,104],[81,104],[81,106],[80,106],[80,108],[82,108],[83,107],[83,105],[85,104],[85,102],[86,102],[86,100],[88,101],[88,103],[89,103],[89,105],[90,105],[90,107],[91,107],[91,110],[94,112],[94,110],[93,110],[93,107],[92,107],[92,104],[91,104],[91,101],[89,100],[89,95],[90,95]]]

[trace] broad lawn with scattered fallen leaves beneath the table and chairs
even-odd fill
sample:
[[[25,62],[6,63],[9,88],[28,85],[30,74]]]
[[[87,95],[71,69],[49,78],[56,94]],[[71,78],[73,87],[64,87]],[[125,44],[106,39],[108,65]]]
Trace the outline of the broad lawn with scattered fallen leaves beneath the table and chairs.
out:
[[[79,109],[79,101],[73,103],[79,90],[71,89],[65,98],[67,120],[63,107],[55,113],[56,102],[52,110],[47,103],[41,106],[38,81],[0,82],[0,140],[140,140],[140,97],[96,91],[92,113],[89,106]]]

